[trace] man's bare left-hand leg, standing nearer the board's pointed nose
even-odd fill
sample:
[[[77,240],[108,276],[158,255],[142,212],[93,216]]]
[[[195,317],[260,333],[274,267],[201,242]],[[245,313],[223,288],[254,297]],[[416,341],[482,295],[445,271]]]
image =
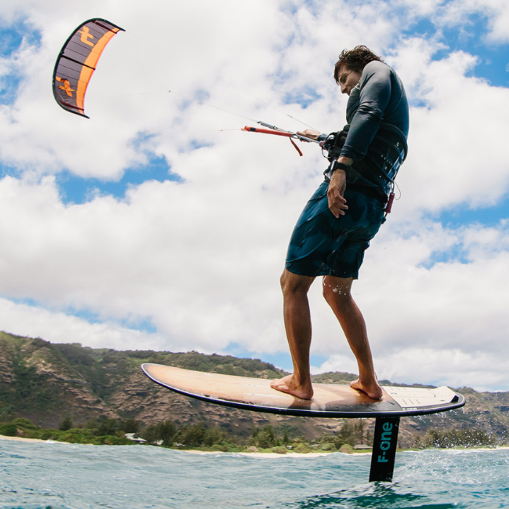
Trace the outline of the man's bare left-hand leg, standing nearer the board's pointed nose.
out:
[[[294,274],[287,269],[281,275],[283,315],[288,345],[292,354],[293,374],[274,380],[270,384],[274,389],[306,400],[313,397],[309,372],[311,316],[307,292],[314,279],[314,277]]]

